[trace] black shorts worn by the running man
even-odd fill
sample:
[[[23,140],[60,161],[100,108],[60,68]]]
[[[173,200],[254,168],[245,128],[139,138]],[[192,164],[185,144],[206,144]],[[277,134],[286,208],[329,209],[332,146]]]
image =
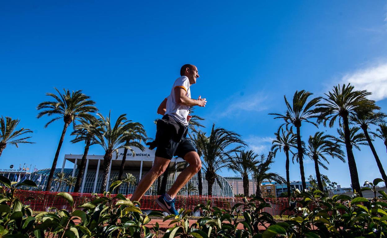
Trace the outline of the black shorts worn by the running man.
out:
[[[195,147],[187,139],[187,127],[176,122],[170,115],[163,116],[162,120],[157,122],[156,132],[156,153],[157,157],[172,159],[178,156],[184,159],[184,156]]]

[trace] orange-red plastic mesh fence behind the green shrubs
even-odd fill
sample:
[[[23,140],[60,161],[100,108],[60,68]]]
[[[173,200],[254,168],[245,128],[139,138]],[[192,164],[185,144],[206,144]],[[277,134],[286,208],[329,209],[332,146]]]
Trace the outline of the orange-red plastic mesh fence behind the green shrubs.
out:
[[[26,191],[19,190],[15,196],[25,205],[30,205],[33,211],[49,211],[51,207],[57,209],[70,209],[70,205],[63,198],[56,196],[57,192],[44,192],[44,191]],[[74,205],[79,206],[89,201],[92,201],[95,196],[90,193],[75,193],[70,192],[74,199]],[[99,196],[102,196],[99,194]],[[115,196],[115,195],[112,195]],[[129,194],[126,197],[131,197]],[[33,199],[31,199],[31,197]],[[142,210],[161,210],[156,204],[158,196],[144,196],[140,200]],[[217,196],[176,196],[175,207],[193,210],[197,204],[206,204],[208,200],[211,200],[211,207],[216,206],[220,209],[231,209],[236,203],[243,203],[243,197],[217,197]],[[272,215],[279,215],[281,211],[288,208],[288,200],[286,197],[272,198],[265,197],[265,200],[271,204],[272,208],[264,208],[264,211]],[[285,211],[284,215],[289,215],[293,212]]]

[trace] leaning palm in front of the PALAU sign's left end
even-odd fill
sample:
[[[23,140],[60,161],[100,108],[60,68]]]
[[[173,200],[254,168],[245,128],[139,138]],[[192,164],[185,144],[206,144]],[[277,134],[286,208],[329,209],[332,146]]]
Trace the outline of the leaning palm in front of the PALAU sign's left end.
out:
[[[130,123],[128,123],[129,125]],[[131,127],[128,129],[128,134],[125,142],[125,148],[123,150],[123,156],[122,156],[122,162],[121,162],[121,167],[120,171],[118,172],[118,180],[122,180],[122,174],[123,170],[125,169],[125,162],[126,162],[126,155],[128,154],[128,148],[131,147],[137,147],[137,148],[142,148],[144,150],[144,146],[141,145],[142,141],[146,141],[146,132],[144,130],[144,127],[140,123],[131,123]],[[133,156],[135,155],[132,153]],[[116,191],[118,192],[120,190],[120,186],[116,188]],[[116,192],[116,193],[117,193]]]

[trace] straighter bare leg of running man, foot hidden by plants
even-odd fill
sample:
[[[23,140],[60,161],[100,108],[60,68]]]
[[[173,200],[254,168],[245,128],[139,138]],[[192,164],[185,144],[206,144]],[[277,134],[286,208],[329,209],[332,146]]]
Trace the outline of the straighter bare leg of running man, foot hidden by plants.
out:
[[[153,166],[149,172],[147,172],[141,181],[137,185],[133,192],[130,201],[140,201],[146,191],[152,186],[153,182],[165,171],[171,160],[162,157],[155,157]]]

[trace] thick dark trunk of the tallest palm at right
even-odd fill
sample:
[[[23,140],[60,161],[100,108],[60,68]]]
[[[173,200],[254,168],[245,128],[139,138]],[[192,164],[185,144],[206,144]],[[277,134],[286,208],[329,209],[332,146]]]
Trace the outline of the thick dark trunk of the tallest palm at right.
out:
[[[343,124],[344,124],[344,139],[345,139],[345,147],[347,150],[347,158],[348,158],[348,167],[349,167],[349,175],[351,176],[352,190],[360,193],[360,183],[359,183],[359,175],[358,169],[356,167],[355,157],[353,156],[352,144],[351,144],[351,133],[349,132],[349,123],[348,116],[342,116]]]

